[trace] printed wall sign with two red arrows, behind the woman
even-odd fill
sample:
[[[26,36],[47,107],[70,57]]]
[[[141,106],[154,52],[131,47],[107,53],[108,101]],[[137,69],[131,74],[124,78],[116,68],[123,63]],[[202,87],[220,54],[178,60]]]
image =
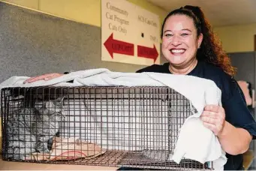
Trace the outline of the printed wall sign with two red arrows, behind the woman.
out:
[[[134,65],[160,63],[155,13],[125,0],[101,0],[101,60]]]

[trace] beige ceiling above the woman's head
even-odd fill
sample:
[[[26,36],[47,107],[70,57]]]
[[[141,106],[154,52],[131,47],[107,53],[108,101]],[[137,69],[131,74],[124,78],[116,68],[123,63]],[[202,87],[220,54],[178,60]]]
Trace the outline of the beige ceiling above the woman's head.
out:
[[[256,0],[148,0],[166,11],[184,5],[201,7],[212,26],[256,23]]]

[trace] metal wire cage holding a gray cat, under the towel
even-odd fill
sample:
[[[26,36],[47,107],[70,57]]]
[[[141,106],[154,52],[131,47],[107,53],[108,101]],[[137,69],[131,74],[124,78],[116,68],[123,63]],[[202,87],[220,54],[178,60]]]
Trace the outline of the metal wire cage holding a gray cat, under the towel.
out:
[[[17,87],[1,100],[3,160],[212,169],[170,160],[193,109],[168,87]]]

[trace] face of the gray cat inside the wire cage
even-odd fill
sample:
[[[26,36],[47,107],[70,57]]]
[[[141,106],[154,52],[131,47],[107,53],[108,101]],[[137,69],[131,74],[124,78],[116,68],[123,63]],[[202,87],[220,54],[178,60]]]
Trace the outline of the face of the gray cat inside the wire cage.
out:
[[[64,98],[57,98],[54,101],[47,101],[44,103],[44,108],[50,116],[56,116],[56,120],[65,118],[65,111],[63,110]]]

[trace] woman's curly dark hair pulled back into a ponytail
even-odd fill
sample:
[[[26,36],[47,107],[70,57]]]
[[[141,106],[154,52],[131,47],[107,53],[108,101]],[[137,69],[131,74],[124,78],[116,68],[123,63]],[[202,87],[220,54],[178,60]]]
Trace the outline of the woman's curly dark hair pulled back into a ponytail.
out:
[[[231,65],[229,56],[222,49],[221,41],[213,33],[212,26],[209,24],[209,21],[204,16],[200,7],[186,5],[185,7],[180,7],[179,9],[168,13],[161,28],[161,37],[163,37],[166,20],[173,15],[185,15],[190,17],[194,21],[195,28],[197,28],[197,36],[199,36],[200,33],[203,34],[203,41],[200,45],[200,49],[197,49],[198,61],[205,61],[212,65],[216,65],[222,68],[224,72],[231,77],[236,74],[236,68]]]

